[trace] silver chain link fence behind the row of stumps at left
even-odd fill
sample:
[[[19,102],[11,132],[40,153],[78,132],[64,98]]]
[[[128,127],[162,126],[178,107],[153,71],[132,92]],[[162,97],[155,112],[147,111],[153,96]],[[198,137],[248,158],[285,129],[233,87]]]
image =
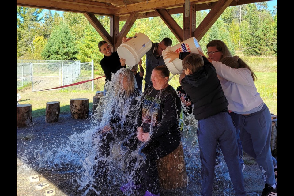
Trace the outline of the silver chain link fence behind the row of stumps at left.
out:
[[[94,79],[93,61],[17,60],[17,88],[31,85],[32,91],[39,91],[90,79]],[[94,82],[63,89],[93,91]]]

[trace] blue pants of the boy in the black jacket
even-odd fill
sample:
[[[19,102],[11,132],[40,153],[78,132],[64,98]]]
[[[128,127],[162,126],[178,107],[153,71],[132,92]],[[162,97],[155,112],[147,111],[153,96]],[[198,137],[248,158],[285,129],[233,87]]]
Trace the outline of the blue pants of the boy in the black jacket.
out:
[[[202,164],[202,196],[211,196],[217,142],[220,144],[224,160],[228,166],[236,195],[245,196],[244,177],[239,162],[236,128],[227,112],[220,112],[198,120],[197,136]]]

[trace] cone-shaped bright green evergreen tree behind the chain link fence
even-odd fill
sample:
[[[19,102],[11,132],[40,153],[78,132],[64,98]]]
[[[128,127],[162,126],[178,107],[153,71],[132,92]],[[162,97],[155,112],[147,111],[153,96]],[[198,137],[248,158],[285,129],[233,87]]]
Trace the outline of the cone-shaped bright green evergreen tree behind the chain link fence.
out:
[[[77,60],[75,38],[68,25],[62,21],[53,29],[41,55],[46,60]]]

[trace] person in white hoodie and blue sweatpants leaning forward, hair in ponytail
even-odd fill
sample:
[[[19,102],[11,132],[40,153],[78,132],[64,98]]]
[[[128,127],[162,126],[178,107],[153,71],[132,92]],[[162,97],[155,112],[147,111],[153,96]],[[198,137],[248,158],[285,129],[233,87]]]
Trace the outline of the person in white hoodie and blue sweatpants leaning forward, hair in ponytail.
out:
[[[262,196],[277,195],[277,160],[270,151],[271,114],[255,87],[256,76],[238,56],[209,60],[216,68],[228,108],[239,116],[243,150],[256,159],[265,188]]]

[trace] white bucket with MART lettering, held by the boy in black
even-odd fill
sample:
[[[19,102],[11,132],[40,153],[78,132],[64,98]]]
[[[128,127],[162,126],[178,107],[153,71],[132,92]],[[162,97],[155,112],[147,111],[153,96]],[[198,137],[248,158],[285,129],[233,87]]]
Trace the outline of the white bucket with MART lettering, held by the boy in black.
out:
[[[203,53],[202,48],[199,45],[199,42],[196,40],[195,37],[191,37],[181,43],[178,43],[175,46],[168,46],[165,50],[162,51],[162,56],[165,62],[165,65],[168,67],[168,70],[172,74],[181,74],[183,71],[182,61],[179,58],[176,58],[172,62],[169,62],[171,59],[167,58],[165,59],[165,52],[173,51],[176,53],[180,52],[193,52],[193,53],[199,53],[197,48]]]

